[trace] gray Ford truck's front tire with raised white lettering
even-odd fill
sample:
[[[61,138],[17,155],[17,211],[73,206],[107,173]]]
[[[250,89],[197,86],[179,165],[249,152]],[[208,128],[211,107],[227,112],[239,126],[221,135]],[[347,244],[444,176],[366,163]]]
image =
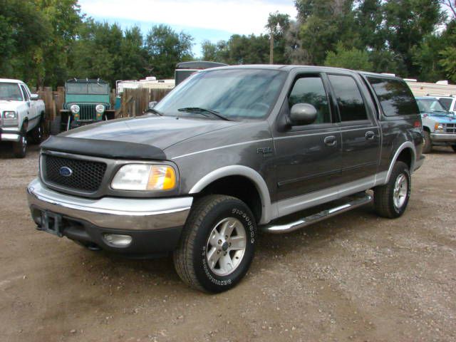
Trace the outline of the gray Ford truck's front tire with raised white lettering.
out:
[[[228,272],[215,271],[214,267],[209,265],[207,257],[212,248],[209,237],[213,234],[214,228],[224,222],[239,222],[246,234],[241,261]],[[179,247],[174,253],[177,274],[195,289],[213,293],[227,291],[247,273],[254,257],[256,240],[257,225],[252,212],[244,202],[224,195],[202,197],[195,202],[182,232]],[[226,247],[220,249],[221,253],[229,252],[229,239],[226,242],[220,244],[221,247]]]

